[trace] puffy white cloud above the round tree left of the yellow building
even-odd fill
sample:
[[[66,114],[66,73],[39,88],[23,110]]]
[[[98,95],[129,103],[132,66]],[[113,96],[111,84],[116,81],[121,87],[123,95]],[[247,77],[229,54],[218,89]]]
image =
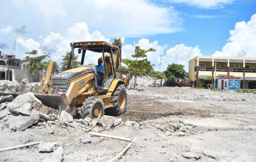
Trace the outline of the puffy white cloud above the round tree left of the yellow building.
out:
[[[185,70],[189,69],[189,60],[197,55],[202,55],[199,46],[187,47],[184,44],[176,45],[167,50],[166,55],[163,57],[163,65],[166,69],[168,64],[176,63],[185,65]]]

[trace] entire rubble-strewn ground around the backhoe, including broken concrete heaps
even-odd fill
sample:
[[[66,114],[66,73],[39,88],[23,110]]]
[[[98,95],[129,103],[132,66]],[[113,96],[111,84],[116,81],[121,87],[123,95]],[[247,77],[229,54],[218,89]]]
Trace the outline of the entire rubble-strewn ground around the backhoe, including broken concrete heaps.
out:
[[[0,88],[6,91],[17,90],[1,83]],[[65,158],[65,161],[95,162],[122,158],[120,161],[180,162],[256,158],[256,150],[252,149],[256,145],[256,114],[252,109],[255,103],[249,102],[256,100],[255,94],[189,87],[141,89],[143,91],[128,90],[126,114],[104,115],[98,119],[71,119],[63,115],[65,113],[59,115],[58,110],[38,102],[31,93],[4,100],[0,103],[0,138],[4,139],[0,145],[8,150],[10,145],[24,143],[17,148],[28,148],[1,152],[1,160],[63,162]],[[136,145],[129,149],[132,136],[138,138]],[[39,153],[39,147],[30,145],[39,140],[52,142],[42,143],[40,150],[45,151]],[[241,152],[242,146],[246,147]]]

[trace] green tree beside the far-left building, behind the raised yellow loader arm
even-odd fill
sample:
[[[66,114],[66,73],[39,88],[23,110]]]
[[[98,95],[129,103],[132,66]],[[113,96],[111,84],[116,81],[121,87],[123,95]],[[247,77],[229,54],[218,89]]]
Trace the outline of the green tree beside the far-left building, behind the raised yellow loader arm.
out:
[[[28,70],[30,74],[34,74],[37,70],[43,70],[45,64],[42,61],[50,57],[50,53],[43,53],[43,55],[36,56],[38,54],[37,50],[26,52],[26,54],[32,55],[32,57],[26,56],[24,59],[24,61],[30,62],[25,69]]]

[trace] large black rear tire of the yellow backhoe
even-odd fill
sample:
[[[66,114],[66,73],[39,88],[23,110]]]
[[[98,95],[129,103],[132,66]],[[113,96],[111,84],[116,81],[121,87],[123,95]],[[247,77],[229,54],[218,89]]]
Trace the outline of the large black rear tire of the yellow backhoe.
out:
[[[125,104],[124,108],[120,108],[120,96],[121,94],[124,94],[124,99],[125,99]],[[110,116],[118,116],[121,114],[124,114],[127,109],[127,93],[124,85],[117,85],[117,88],[115,89],[114,93],[112,94],[111,97],[111,104],[113,104],[113,107],[105,109],[105,115],[110,115]]]

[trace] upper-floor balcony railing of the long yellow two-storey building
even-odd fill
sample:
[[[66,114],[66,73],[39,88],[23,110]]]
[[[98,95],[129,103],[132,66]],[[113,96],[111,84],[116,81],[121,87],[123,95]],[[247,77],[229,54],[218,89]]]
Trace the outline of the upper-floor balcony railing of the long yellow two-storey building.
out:
[[[194,70],[196,71],[196,67]],[[213,70],[212,67],[198,67],[198,71],[212,71],[212,70]],[[215,68],[214,68],[214,70],[215,70]],[[216,68],[216,71],[228,72],[228,68]],[[243,68],[230,68],[229,72],[243,72]],[[246,68],[245,72],[255,72],[256,73],[256,69]]]

